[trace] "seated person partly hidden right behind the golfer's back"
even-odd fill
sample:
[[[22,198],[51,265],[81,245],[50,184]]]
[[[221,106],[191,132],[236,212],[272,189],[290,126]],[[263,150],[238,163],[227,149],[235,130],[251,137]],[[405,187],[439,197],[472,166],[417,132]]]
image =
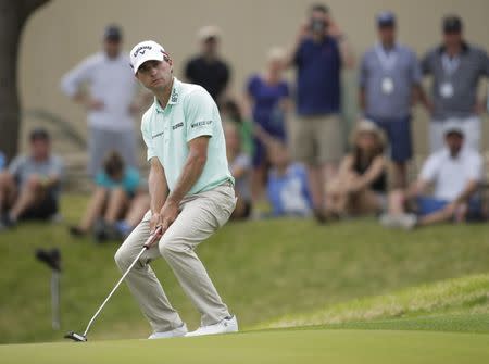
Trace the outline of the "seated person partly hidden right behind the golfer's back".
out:
[[[250,155],[241,151],[241,143],[236,125],[224,124],[224,134],[226,137],[226,154],[229,163],[229,170],[235,177],[235,192],[238,198],[231,219],[244,219],[251,214],[251,192],[250,192]]]

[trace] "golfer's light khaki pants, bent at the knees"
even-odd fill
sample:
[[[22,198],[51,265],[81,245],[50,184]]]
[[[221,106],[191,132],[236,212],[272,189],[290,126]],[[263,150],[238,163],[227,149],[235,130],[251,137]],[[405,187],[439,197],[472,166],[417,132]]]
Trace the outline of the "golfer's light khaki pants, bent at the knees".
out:
[[[229,316],[202,262],[193,251],[229,218],[236,205],[235,191],[230,184],[210,191],[186,197],[180,203],[180,213],[126,277],[133,296],[154,331],[167,331],[180,327],[183,322],[172,307],[149,262],[163,256],[185,293],[202,314],[202,325],[212,325]],[[148,212],[115,253],[115,262],[126,271],[150,235]]]

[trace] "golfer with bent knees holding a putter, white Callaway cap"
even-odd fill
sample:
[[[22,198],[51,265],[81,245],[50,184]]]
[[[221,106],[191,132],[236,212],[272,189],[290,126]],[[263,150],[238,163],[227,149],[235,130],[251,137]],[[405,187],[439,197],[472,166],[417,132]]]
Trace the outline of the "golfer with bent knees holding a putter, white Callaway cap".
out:
[[[151,208],[118,249],[115,261],[121,271],[127,269],[145,240],[161,226],[161,236],[126,278],[153,328],[149,338],[237,331],[236,317],[195,253],[200,242],[227,222],[236,205],[217,106],[202,87],[173,76],[172,59],[154,41],[134,47],[130,65],[136,78],[154,93],[141,124],[151,163]],[[148,265],[160,255],[202,315],[201,327],[193,332],[187,334]]]

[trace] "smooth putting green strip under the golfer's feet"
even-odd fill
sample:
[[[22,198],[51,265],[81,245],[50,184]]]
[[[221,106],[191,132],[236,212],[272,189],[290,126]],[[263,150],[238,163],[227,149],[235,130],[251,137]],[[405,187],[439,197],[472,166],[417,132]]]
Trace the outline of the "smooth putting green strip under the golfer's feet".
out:
[[[2,363],[488,363],[489,335],[301,329],[171,340],[0,346]]]

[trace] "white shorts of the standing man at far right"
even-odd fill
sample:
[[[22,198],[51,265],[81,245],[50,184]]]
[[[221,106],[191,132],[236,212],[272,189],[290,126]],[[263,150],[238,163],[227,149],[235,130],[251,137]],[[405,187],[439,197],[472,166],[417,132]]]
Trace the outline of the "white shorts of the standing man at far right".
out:
[[[465,134],[465,146],[469,146],[475,151],[480,151],[480,137],[482,135],[482,124],[480,117],[452,117],[443,121],[432,120],[429,123],[429,147],[431,152],[439,151],[444,147],[444,125],[446,123],[459,124]]]

